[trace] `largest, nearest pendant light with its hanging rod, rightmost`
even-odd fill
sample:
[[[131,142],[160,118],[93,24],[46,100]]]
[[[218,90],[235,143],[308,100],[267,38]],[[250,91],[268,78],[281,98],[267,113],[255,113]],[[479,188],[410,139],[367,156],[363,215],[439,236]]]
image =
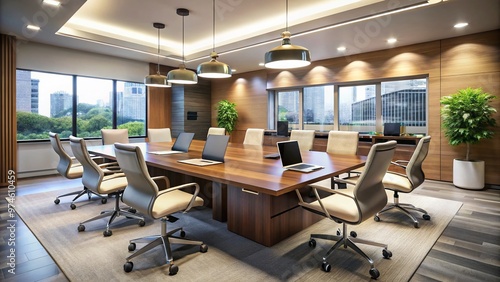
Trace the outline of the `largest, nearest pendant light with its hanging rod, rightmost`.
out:
[[[265,55],[264,66],[270,69],[293,69],[311,64],[311,54],[307,48],[290,43],[288,31],[288,0],[286,0],[286,29],[281,34],[281,45],[271,49]]]

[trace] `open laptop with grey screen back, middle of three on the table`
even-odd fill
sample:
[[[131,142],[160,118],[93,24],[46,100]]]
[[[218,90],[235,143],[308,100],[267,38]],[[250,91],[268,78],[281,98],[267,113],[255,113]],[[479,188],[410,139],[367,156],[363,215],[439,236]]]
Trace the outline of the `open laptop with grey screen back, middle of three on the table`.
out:
[[[180,163],[192,164],[197,166],[206,166],[220,164],[224,162],[229,135],[213,135],[207,137],[201,159],[179,160]]]

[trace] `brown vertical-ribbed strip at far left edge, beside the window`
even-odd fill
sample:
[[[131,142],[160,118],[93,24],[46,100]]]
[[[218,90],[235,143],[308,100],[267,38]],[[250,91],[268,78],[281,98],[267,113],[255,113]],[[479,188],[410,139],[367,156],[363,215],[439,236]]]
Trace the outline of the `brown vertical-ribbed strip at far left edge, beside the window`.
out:
[[[16,38],[0,36],[0,187],[7,187],[9,171],[17,172]]]

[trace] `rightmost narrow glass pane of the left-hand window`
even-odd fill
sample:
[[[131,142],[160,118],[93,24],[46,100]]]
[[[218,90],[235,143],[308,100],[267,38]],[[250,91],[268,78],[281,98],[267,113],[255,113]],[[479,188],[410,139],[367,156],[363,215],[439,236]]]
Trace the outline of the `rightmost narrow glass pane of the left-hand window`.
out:
[[[142,83],[116,83],[116,124],[127,128],[129,136],[146,134],[146,86]]]

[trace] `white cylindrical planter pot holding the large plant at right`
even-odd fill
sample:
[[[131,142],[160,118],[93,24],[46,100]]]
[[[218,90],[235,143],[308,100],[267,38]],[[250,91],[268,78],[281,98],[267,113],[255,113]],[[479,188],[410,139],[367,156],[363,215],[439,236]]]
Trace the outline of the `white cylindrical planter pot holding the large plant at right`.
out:
[[[458,188],[484,188],[484,161],[453,160],[453,185]]]

